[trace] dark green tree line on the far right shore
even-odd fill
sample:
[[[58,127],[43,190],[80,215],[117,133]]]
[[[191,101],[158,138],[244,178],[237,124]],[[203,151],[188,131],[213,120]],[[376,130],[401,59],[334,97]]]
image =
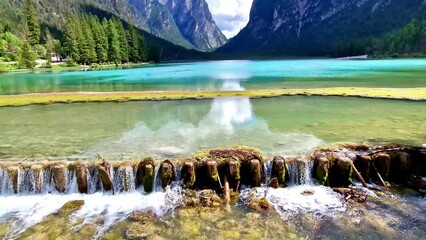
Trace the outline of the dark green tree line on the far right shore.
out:
[[[368,54],[374,57],[425,57],[426,20],[413,20],[402,29],[380,38],[340,41],[335,57]]]

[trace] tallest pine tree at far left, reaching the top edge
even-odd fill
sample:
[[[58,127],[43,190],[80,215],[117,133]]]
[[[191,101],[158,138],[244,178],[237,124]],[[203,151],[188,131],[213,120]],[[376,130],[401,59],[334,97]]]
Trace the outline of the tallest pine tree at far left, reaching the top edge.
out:
[[[40,25],[38,22],[37,12],[32,0],[25,0],[25,26],[27,29],[26,38],[28,42],[34,46],[40,43]]]

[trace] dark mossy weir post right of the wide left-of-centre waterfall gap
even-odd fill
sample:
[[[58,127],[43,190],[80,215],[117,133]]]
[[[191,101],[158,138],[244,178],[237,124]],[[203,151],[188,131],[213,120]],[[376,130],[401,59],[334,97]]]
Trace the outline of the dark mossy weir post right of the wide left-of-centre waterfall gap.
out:
[[[154,187],[155,163],[152,158],[145,158],[138,164],[136,171],[136,187],[143,185],[144,191],[150,193]]]

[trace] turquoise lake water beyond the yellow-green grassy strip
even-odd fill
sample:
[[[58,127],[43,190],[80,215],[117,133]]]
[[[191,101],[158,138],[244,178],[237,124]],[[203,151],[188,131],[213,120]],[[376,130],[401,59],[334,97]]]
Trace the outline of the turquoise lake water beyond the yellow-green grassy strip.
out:
[[[425,87],[426,60],[282,60],[160,64],[103,71],[0,74],[0,94],[64,91]]]

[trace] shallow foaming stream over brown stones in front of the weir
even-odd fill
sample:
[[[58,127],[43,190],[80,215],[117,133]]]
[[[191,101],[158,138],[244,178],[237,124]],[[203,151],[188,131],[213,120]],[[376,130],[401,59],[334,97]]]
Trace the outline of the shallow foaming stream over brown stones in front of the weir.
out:
[[[304,191],[313,195],[303,195]],[[263,195],[264,188],[257,189]],[[269,190],[276,212],[261,215],[246,203],[222,208],[179,207],[177,190],[111,196],[47,194],[0,197],[0,237],[6,239],[422,239],[425,200],[412,194],[372,194],[366,204],[347,204],[322,186]],[[248,192],[242,192],[244,198]],[[70,201],[80,208],[63,210]],[[172,200],[172,201],[170,201]],[[154,217],[129,220],[133,211]],[[132,237],[133,236],[133,237]]]

